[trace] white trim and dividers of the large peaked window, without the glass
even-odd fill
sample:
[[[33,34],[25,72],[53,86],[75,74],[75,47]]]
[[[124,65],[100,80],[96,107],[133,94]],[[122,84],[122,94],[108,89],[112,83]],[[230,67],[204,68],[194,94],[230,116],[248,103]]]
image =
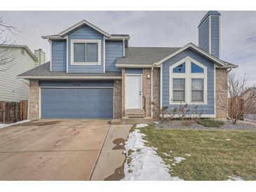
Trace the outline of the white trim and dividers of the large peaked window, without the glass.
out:
[[[185,73],[178,74],[173,73],[173,69],[180,64],[185,62]],[[203,68],[203,73],[191,73],[191,62],[197,64],[199,67]],[[173,102],[173,78],[185,78],[185,102]],[[203,78],[203,102],[192,102],[192,78]],[[169,67],[169,104],[207,104],[207,67],[200,62],[192,59],[191,57],[185,57],[184,59],[176,62]]]

